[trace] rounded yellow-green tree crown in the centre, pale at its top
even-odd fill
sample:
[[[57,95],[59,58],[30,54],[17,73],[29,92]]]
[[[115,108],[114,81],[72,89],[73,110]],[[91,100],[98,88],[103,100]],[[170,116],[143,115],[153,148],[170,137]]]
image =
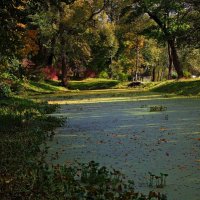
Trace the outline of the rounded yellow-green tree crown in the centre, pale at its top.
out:
[[[96,16],[95,27],[87,29],[87,37],[91,47],[91,60],[88,68],[96,73],[109,71],[109,66],[118,50],[115,28],[115,24],[109,21],[107,13],[102,11]]]

